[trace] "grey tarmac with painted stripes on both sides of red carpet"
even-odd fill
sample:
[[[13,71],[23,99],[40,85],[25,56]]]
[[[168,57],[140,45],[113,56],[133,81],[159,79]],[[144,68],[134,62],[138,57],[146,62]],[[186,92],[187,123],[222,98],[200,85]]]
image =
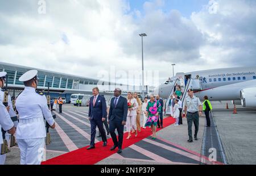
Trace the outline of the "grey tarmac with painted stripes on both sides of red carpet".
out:
[[[233,114],[233,106],[228,103],[230,109],[226,110],[226,102],[212,102],[212,127],[205,127],[205,117],[201,116],[199,140],[193,143],[187,142],[187,120],[183,118],[183,125],[172,124],[157,132],[156,140],[147,137],[123,149],[121,154],[113,154],[97,164],[256,164],[256,109],[237,106],[238,114]],[[52,142],[46,146],[46,160],[89,145],[87,116],[88,107],[64,104],[63,114],[56,113],[58,127],[50,129]],[[210,148],[216,149],[216,162],[208,161],[212,156]],[[7,154],[6,165],[18,165],[19,160],[18,146],[14,146]]]

